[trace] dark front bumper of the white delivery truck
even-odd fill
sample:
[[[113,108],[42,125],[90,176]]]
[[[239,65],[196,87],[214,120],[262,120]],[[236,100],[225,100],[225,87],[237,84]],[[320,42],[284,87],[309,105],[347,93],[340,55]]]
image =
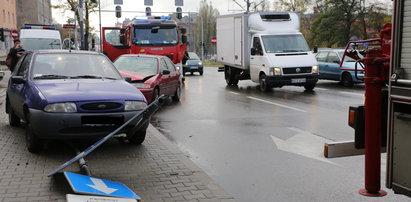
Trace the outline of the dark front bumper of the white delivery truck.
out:
[[[273,87],[281,87],[285,85],[305,86],[314,85],[318,81],[318,75],[301,75],[301,76],[267,76],[266,82]]]

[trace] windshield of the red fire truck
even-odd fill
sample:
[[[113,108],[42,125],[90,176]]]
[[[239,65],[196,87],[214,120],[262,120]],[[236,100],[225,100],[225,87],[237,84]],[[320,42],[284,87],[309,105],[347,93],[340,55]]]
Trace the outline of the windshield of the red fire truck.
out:
[[[154,33],[150,28],[135,28],[133,43],[142,46],[176,45],[178,43],[175,28],[160,28]]]

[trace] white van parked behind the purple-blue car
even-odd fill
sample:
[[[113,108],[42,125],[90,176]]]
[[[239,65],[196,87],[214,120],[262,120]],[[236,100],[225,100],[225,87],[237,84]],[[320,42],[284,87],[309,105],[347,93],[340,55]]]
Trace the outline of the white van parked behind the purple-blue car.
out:
[[[62,49],[60,32],[48,25],[23,25],[20,42],[24,50]]]

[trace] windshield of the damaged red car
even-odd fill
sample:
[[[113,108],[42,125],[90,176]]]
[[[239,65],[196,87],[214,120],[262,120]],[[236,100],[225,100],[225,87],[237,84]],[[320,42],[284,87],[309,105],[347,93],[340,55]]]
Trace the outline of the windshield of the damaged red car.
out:
[[[118,70],[129,72],[141,72],[147,74],[158,73],[158,60],[157,58],[149,57],[120,57],[114,65]]]

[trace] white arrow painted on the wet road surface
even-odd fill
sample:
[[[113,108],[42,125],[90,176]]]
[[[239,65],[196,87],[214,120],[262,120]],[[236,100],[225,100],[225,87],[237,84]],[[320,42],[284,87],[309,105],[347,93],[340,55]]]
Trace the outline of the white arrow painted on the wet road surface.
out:
[[[305,156],[333,165],[338,165],[322,157],[324,152],[324,143],[329,142],[330,140],[314,135],[308,131],[300,130],[298,128],[290,127],[288,129],[297,132],[297,134],[288,138],[287,140],[282,140],[275,136],[271,136],[274,144],[279,150],[294,153],[300,156]]]

